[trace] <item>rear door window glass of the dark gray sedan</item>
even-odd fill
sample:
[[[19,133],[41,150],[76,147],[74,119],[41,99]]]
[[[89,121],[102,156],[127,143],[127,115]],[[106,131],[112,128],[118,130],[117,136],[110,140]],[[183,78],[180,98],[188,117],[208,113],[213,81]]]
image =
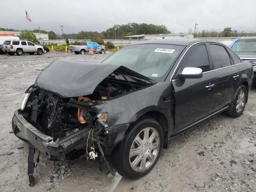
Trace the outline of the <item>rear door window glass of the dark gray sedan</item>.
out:
[[[212,70],[231,65],[229,54],[223,46],[209,44],[209,52]]]

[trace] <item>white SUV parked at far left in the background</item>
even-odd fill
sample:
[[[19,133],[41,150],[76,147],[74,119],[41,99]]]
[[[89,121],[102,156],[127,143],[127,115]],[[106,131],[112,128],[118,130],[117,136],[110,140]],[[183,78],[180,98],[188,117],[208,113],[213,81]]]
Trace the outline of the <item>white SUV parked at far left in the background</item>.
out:
[[[9,55],[14,55],[14,53],[17,55],[22,55],[23,53],[42,55],[44,47],[26,40],[6,40],[3,44],[3,52]]]

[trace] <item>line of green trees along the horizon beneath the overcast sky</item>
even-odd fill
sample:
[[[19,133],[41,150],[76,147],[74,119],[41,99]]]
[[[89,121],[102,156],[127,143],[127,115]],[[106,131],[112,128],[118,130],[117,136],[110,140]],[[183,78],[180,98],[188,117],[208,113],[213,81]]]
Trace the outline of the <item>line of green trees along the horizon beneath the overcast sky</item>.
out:
[[[14,29],[0,28],[0,31],[20,31]],[[26,31],[26,30],[24,30]],[[130,35],[140,35],[140,34],[168,34],[171,33],[170,30],[166,28],[164,25],[154,25],[154,24],[146,24],[146,23],[128,23],[122,25],[114,25],[111,28],[108,28],[105,31],[97,32],[97,31],[80,31],[77,34],[56,34],[53,31],[45,31],[34,29],[31,32],[37,33],[48,33],[49,39],[92,39],[92,38],[100,38],[100,39],[121,39],[124,36]],[[198,31],[196,28],[196,32],[192,30],[192,28],[188,29],[189,34],[195,34],[195,37],[198,38],[206,38],[206,37],[242,37],[242,36],[256,36],[256,32],[238,32],[237,30],[232,30],[231,27],[224,28],[223,31],[218,32],[214,29],[212,30],[201,30]]]

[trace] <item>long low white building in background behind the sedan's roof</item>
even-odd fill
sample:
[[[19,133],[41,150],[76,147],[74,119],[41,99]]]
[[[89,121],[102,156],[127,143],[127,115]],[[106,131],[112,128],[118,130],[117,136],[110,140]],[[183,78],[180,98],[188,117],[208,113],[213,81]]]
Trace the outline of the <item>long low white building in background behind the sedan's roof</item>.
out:
[[[129,40],[152,40],[152,39],[164,39],[164,38],[194,38],[192,34],[155,34],[155,35],[130,35],[124,36]]]

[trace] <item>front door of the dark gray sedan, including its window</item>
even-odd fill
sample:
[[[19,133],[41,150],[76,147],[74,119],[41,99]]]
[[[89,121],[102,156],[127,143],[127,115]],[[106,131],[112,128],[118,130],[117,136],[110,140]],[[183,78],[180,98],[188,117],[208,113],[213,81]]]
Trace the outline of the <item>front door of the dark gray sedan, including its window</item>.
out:
[[[179,78],[185,67],[202,69],[202,78]],[[175,91],[174,133],[186,130],[209,116],[214,109],[217,76],[211,71],[205,44],[196,44],[182,58],[176,76],[172,80]]]

